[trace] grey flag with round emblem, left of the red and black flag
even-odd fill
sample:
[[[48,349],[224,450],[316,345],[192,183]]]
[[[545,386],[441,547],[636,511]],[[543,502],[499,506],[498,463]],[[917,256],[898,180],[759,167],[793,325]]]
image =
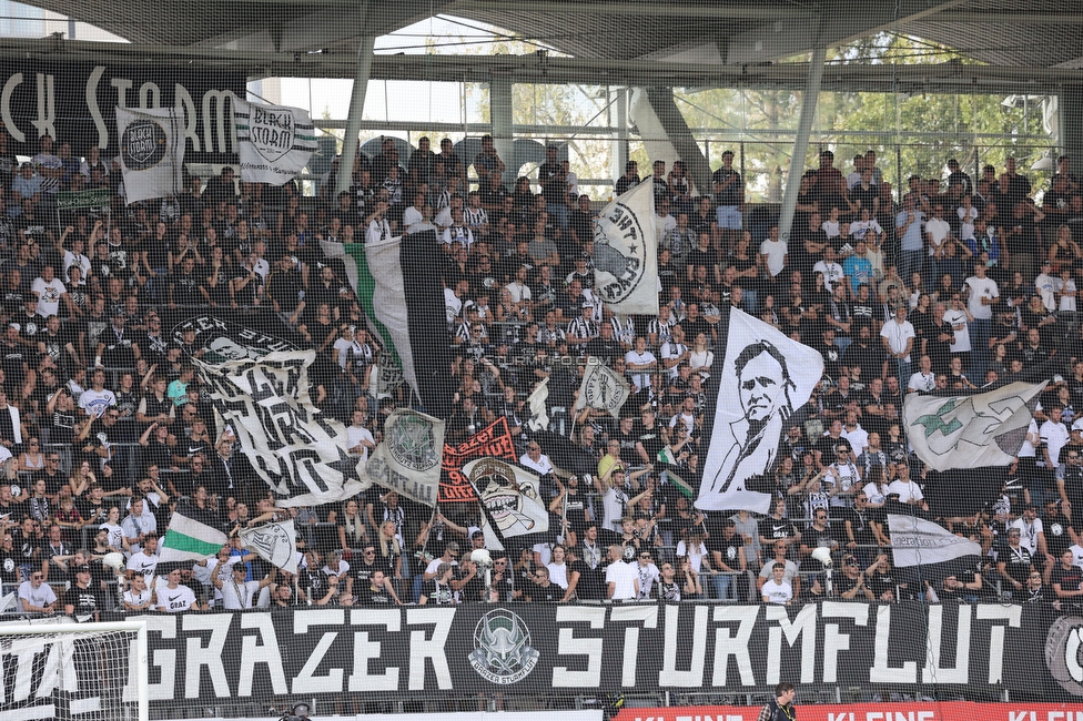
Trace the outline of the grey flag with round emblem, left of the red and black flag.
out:
[[[384,440],[365,471],[373,483],[426,506],[439,497],[444,427],[439,418],[397,408],[384,423]]]

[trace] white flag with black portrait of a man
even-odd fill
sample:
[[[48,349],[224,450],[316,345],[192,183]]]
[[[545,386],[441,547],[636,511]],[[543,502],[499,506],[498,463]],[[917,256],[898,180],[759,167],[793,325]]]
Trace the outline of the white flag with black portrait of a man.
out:
[[[779,440],[823,376],[823,358],[742,311],[730,308],[723,317],[728,323],[720,324],[719,339],[725,331],[725,345],[715,349],[715,357],[725,360],[712,374],[718,394],[713,419],[707,417],[712,423],[710,446],[701,461],[696,507],[766,514]]]

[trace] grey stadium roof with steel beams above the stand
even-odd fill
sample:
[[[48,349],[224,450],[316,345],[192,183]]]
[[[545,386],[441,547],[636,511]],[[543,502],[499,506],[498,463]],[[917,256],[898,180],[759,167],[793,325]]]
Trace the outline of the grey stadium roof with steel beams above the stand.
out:
[[[379,55],[374,78],[468,80],[472,73],[512,72],[542,82],[725,85],[741,73],[751,83],[800,85],[803,71],[772,61],[881,31],[933,40],[988,65],[900,70],[900,65],[848,64],[848,71],[829,69],[826,83],[836,80],[875,89],[889,82],[895,88],[914,82],[930,91],[952,90],[952,85],[965,91],[968,83],[976,88],[993,82],[1003,90],[1005,84],[1079,82],[1073,71],[1083,68],[1083,12],[1074,0],[37,0],[32,4],[68,13],[133,44],[103,48],[78,41],[50,45],[0,40],[0,52],[61,53],[99,61],[103,57],[131,61],[135,55],[155,62],[227,62],[253,77],[352,77],[362,35],[387,34],[435,14],[506,28],[575,60],[439,55],[434,62],[432,55]]]

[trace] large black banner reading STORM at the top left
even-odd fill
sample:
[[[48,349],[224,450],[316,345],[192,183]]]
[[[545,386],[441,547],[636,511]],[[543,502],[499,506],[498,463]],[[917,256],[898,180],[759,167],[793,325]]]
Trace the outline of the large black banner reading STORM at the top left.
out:
[[[235,163],[232,98],[244,99],[236,71],[125,68],[90,63],[7,62],[0,75],[0,126],[8,150],[34,155],[38,139],[70,142],[75,155],[98,145],[102,158],[120,152],[114,109],[180,106],[188,162]]]

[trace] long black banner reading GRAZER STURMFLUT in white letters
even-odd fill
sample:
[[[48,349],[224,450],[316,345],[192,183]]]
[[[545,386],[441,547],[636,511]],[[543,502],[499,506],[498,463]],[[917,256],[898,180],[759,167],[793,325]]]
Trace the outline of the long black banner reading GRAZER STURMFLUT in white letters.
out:
[[[1074,680],[1081,619],[1057,620],[1049,606],[469,603],[134,618],[149,623],[151,703],[162,711],[298,694],[763,693],[780,680],[843,692],[958,698],[980,688],[989,698],[1006,690],[1018,701],[1083,701]],[[0,718],[34,702],[43,680],[30,660],[0,656]],[[98,692],[90,676],[72,690],[77,699]]]

